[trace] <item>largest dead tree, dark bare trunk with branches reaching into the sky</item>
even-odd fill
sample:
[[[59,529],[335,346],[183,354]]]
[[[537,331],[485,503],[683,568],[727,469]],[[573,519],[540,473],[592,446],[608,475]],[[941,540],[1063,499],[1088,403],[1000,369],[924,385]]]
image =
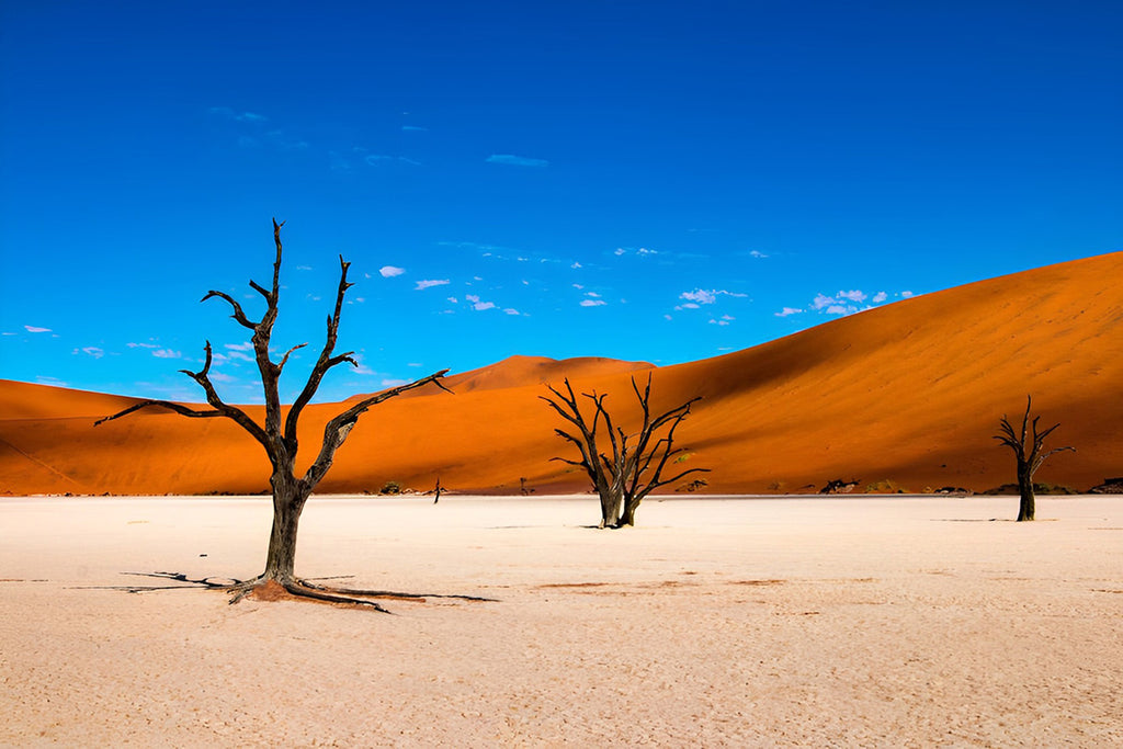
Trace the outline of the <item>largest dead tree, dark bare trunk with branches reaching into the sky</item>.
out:
[[[311,402],[313,395],[316,395],[316,391],[319,389],[320,383],[328,371],[345,363],[350,364],[351,366],[358,366],[358,363],[353,358],[354,351],[347,351],[345,354],[335,353],[336,337],[339,332],[339,317],[343,312],[344,305],[344,295],[354,284],[348,283],[347,281],[347,268],[350,266],[350,263],[344,262],[344,258],[340,256],[339,287],[336,291],[335,311],[328,317],[328,329],[323,348],[320,349],[319,357],[312,366],[312,372],[309,374],[303,390],[301,390],[296,400],[291,407],[289,407],[287,412],[285,412],[281,405],[281,398],[279,395],[279,381],[281,378],[281,372],[285,364],[287,364],[289,357],[293,354],[293,351],[303,348],[307,344],[293,346],[284,354],[284,356],[281,357],[280,362],[273,362],[271,358],[270,342],[273,334],[273,325],[277,318],[277,301],[281,292],[281,227],[283,225],[283,221],[281,223],[277,223],[275,219],[273,221],[273,239],[276,244],[276,261],[273,264],[272,286],[266,289],[254,281],[249,282],[250,287],[265,298],[265,313],[259,320],[252,320],[247,317],[246,312],[241,308],[241,304],[232,296],[221,291],[209,291],[207,292],[207,295],[202,298],[202,301],[204,302],[212,298],[218,298],[227,302],[232,308],[234,314],[231,317],[234,320],[237,321],[243,328],[252,331],[250,340],[254,346],[257,369],[261,374],[262,385],[265,392],[265,423],[257,423],[240,408],[226,403],[219,396],[210,377],[211,345],[210,341],[207,341],[204,347],[206,359],[203,362],[202,369],[199,372],[181,369],[181,372],[194,380],[199,386],[202,387],[207,395],[207,402],[211,407],[210,410],[200,410],[182,405],[180,403],[172,403],[170,401],[146,400],[131,405],[119,413],[115,413],[111,417],[100,419],[94,426],[112,421],[113,419],[119,419],[149,407],[167,409],[192,419],[230,419],[249,432],[249,435],[261,444],[273,466],[273,473],[270,477],[270,484],[273,487],[273,529],[270,532],[270,545],[265,555],[265,570],[253,579],[236,582],[235,584],[228,586],[228,590],[230,590],[230,592],[235,595],[234,600],[239,600],[257,587],[275,583],[295,596],[336,603],[357,603],[384,611],[373,601],[355,597],[387,595],[384,591],[356,591],[344,588],[331,590],[303,581],[295,576],[293,568],[296,556],[296,529],[300,523],[300,515],[304,510],[304,503],[308,501],[312,490],[316,488],[317,484],[319,484],[323,476],[328,473],[328,469],[331,467],[331,463],[335,459],[336,451],[343,446],[347,436],[350,433],[350,430],[355,427],[355,423],[363,413],[365,413],[371,407],[382,403],[383,401],[394,398],[395,395],[399,395],[408,390],[421,387],[430,383],[437,385],[441,390],[448,391],[448,389],[440,383],[440,378],[445,376],[448,369],[442,369],[441,372],[431,374],[428,377],[422,377],[421,380],[411,382],[407,385],[392,387],[375,395],[365,398],[343,413],[332,418],[323,428],[323,440],[320,445],[320,451],[317,455],[316,460],[302,475],[298,476],[296,450],[299,444],[296,439],[296,424],[301,414],[304,412],[304,408],[309,404],[309,402]]]

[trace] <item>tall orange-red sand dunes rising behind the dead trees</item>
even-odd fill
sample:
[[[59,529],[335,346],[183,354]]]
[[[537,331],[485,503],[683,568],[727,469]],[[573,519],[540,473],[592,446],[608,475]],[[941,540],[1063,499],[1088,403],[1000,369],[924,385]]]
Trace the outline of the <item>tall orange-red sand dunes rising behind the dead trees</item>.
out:
[[[1087,490],[1123,475],[1123,253],[1074,261],[905,300],[763,346],[670,367],[609,359],[512,357],[387,401],[359,421],[321,492],[584,490],[549,458],[566,451],[542,383],[633,402],[654,376],[657,408],[694,395],[681,444],[712,468],[706,492],[801,492],[833,478],[859,490],[984,490],[1013,481],[992,436],[1028,393],[1053,456],[1038,474]],[[130,399],[0,381],[0,493],[207,493],[267,488],[259,446],[220,419],[152,410],[97,429]],[[339,404],[311,407],[305,463]],[[259,415],[259,409],[250,408]]]

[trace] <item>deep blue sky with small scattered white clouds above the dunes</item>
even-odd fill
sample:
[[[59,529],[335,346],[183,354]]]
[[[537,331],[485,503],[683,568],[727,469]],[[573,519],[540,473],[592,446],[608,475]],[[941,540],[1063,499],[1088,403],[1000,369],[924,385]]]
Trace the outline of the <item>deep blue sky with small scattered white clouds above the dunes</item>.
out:
[[[0,377],[198,400],[210,339],[259,401],[199,300],[258,312],[274,216],[280,350],[353,264],[320,400],[1114,252],[1121,38],[1117,2],[3,2]]]

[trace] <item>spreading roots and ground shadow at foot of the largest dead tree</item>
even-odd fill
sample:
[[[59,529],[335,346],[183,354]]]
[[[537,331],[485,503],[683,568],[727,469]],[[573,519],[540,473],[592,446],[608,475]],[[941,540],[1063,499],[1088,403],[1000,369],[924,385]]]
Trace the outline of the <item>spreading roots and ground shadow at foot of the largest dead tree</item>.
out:
[[[136,575],[138,577],[156,577],[172,581],[175,585],[95,585],[89,590],[125,591],[126,593],[146,593],[149,591],[177,591],[189,588],[206,588],[211,591],[225,591],[230,594],[230,604],[238,603],[247,596],[263,601],[276,601],[284,597],[309,599],[321,603],[341,604],[348,606],[359,606],[374,609],[384,614],[393,613],[371,599],[382,599],[391,601],[407,601],[410,603],[424,603],[428,599],[453,599],[457,601],[481,601],[493,602],[495,599],[487,599],[478,595],[457,595],[447,593],[401,593],[398,591],[371,591],[354,587],[328,587],[313,583],[312,579],[340,579],[350,575],[335,577],[317,577],[311,579],[294,578],[291,581],[266,579],[258,575],[252,579],[240,581],[234,577],[199,577],[191,578],[184,573],[121,573],[122,575]]]

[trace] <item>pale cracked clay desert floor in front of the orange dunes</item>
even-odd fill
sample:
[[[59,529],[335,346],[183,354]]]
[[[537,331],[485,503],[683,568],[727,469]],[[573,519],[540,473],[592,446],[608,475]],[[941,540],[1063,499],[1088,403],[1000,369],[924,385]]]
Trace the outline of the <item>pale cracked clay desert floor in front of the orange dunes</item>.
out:
[[[0,745],[1123,743],[1123,497],[317,497],[302,574],[496,601],[99,587],[253,576],[270,513],[0,500]]]

